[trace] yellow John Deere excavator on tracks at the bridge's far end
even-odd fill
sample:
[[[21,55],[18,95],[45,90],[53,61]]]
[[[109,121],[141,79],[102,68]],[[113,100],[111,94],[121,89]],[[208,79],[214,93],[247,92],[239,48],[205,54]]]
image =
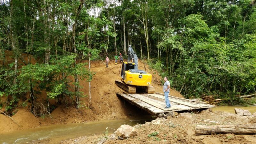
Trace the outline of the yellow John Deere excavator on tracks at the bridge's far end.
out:
[[[132,60],[132,62],[130,62]],[[122,68],[121,68],[122,67]],[[128,62],[123,62],[121,65],[121,71],[119,71],[122,80],[116,80],[115,83],[125,93],[134,94],[136,88],[141,89],[148,94],[155,92],[153,86],[151,86],[152,75],[145,70],[138,69],[138,57],[133,51],[131,45],[128,48]]]

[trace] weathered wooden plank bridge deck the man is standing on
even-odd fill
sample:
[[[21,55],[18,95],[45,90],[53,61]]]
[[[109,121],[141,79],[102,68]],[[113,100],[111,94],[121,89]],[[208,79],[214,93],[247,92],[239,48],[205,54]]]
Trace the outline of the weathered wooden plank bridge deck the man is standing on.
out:
[[[201,102],[199,99],[184,99],[169,95],[169,100],[171,103],[170,108],[166,108],[164,94],[154,93],[154,94],[124,94],[116,93],[117,96],[127,100],[133,105],[138,106],[150,114],[160,114],[168,113],[173,111],[186,111],[193,109],[206,109],[215,107],[213,105]]]

